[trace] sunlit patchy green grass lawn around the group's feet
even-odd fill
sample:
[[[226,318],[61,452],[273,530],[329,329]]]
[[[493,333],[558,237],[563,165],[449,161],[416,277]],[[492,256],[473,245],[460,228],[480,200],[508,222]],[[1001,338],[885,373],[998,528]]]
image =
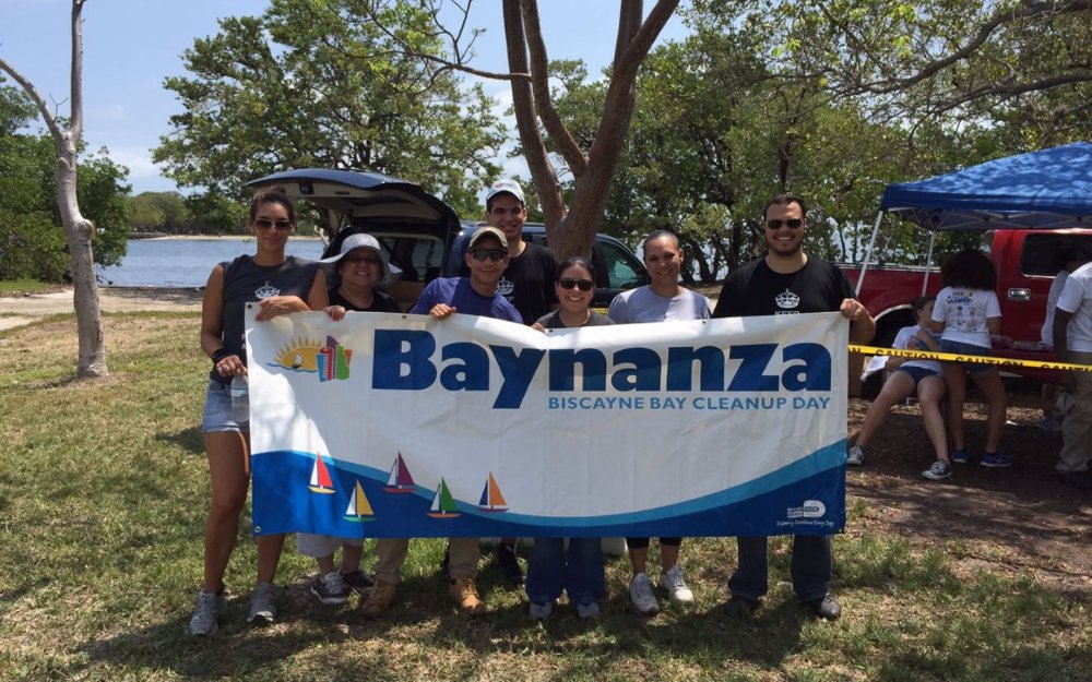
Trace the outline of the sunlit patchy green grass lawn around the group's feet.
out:
[[[875,511],[854,498],[850,533],[834,539],[834,623],[794,603],[785,538],[771,543],[771,590],[753,622],[723,614],[735,545],[707,538],[684,546],[692,608],[634,615],[628,562],[612,560],[603,618],[585,624],[562,606],[545,626],[491,567],[479,579],[489,617],[456,613],[435,576],[440,540],[412,545],[389,617],[319,606],[307,593],[313,563],[289,540],[281,619],[251,630],[245,519],[221,630],[190,637],[209,494],[198,318],[110,315],[106,331],[111,376],[91,383],[72,381],[71,316],[0,333],[0,680],[1092,679],[1081,597],[1019,573],[957,570],[983,551],[958,540],[854,529]]]

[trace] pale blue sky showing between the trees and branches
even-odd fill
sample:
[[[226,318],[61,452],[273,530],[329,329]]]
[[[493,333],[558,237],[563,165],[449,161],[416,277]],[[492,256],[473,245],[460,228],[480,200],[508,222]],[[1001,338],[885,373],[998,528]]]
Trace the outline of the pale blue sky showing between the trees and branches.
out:
[[[175,189],[159,176],[150,153],[159,135],[168,132],[168,117],[179,109],[174,94],[163,89],[164,77],[185,73],[182,51],[194,38],[214,35],[218,17],[261,14],[268,4],[266,0],[91,0],[84,5],[84,141],[92,149],[108,147],[110,158],[129,167],[134,193]],[[653,0],[644,4],[648,11]],[[617,2],[543,0],[539,11],[551,59],[583,59],[592,73],[610,61]],[[0,57],[47,100],[68,98],[70,14],[69,0],[0,0]],[[471,25],[486,29],[475,46],[473,65],[503,71],[500,0],[475,2]],[[661,40],[684,34],[675,16]],[[510,99],[507,84],[484,84],[499,106]],[[67,115],[67,103],[59,111]]]

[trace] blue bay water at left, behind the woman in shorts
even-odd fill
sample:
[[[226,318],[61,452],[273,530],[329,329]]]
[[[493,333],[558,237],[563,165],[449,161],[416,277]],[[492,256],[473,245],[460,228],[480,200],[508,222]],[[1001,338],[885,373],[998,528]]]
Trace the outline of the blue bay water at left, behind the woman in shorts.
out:
[[[319,239],[289,239],[288,254],[316,260]],[[130,239],[121,265],[99,267],[99,282],[118,287],[203,287],[216,263],[257,251],[253,238]]]

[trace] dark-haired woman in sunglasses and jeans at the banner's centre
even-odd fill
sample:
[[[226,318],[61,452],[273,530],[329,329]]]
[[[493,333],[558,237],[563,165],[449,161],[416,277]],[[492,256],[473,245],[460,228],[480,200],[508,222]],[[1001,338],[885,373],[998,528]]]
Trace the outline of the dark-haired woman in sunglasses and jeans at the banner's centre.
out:
[[[558,265],[554,284],[560,307],[534,323],[534,328],[562,330],[614,324],[610,318],[591,309],[595,296],[595,268],[586,259],[573,256]],[[546,620],[554,612],[561,590],[580,618],[600,614],[600,599],[606,591],[603,571],[603,547],[600,538],[535,538],[527,561],[526,590],[531,601],[531,618]]]

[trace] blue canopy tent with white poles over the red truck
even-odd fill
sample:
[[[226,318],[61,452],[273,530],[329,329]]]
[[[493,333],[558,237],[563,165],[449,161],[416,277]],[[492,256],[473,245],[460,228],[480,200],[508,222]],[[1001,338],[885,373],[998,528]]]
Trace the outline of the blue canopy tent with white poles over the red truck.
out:
[[[858,292],[886,213],[931,232],[929,263],[938,230],[1092,228],[1092,144],[1075,142],[889,184],[865,252]],[[926,283],[922,286],[924,291]]]

